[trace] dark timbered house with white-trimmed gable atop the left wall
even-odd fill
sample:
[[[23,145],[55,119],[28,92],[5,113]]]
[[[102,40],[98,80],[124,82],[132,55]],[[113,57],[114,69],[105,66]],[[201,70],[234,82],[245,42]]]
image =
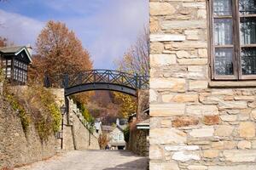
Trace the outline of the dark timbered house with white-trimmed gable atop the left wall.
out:
[[[32,62],[32,48],[29,45],[0,48],[0,61],[9,82],[17,85],[26,84],[27,68]]]

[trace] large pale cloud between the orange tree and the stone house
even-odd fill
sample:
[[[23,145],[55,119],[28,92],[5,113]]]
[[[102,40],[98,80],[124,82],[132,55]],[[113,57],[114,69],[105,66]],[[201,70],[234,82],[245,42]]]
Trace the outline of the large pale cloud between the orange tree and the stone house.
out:
[[[92,18],[67,21],[89,49],[96,68],[113,68],[113,60],[122,57],[148,26],[148,0],[109,2]]]

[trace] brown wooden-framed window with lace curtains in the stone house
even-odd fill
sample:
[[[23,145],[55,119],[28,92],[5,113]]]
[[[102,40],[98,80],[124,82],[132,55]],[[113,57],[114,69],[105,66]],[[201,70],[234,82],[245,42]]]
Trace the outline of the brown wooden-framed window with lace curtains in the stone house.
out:
[[[256,80],[256,0],[209,0],[213,80]]]

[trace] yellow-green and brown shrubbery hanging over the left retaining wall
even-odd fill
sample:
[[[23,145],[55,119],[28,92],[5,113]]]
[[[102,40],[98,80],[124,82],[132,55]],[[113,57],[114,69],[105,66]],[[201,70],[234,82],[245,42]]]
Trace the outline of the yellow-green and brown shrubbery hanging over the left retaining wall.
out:
[[[23,128],[25,133],[27,133],[27,127],[33,123],[43,142],[59,130],[61,111],[55,104],[53,94],[48,90],[39,85],[33,85],[26,88],[6,87],[4,91],[5,98],[9,99],[14,110],[22,113],[20,121],[25,125]]]

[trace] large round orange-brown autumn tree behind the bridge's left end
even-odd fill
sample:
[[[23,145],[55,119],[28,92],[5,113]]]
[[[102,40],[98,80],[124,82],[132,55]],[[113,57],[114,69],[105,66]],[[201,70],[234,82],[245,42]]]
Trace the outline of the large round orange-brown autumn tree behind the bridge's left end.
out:
[[[38,36],[31,75],[35,79],[73,74],[92,68],[90,54],[64,23],[50,20]]]

